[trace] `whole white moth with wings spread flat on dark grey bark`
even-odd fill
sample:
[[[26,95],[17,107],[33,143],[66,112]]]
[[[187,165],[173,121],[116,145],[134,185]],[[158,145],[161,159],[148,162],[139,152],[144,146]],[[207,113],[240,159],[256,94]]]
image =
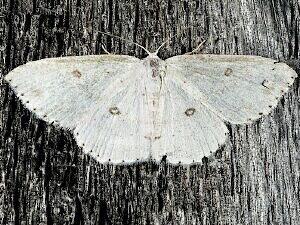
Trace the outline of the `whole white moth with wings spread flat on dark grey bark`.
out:
[[[73,131],[101,163],[163,156],[201,162],[226,140],[224,122],[270,113],[297,74],[258,56],[180,55],[161,60],[127,55],[48,58],[5,79],[28,109]]]

